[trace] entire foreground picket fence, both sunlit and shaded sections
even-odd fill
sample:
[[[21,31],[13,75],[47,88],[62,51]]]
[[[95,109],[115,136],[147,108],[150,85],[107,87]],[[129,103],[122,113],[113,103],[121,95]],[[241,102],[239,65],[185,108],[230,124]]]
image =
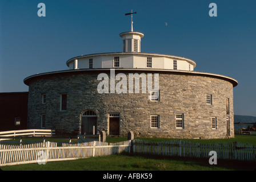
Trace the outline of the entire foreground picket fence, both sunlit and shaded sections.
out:
[[[75,160],[94,156],[133,152],[161,156],[181,156],[190,158],[210,158],[209,152],[217,152],[217,159],[245,160],[256,162],[256,144],[239,142],[202,144],[186,140],[149,142],[146,140],[127,140],[125,142],[84,142],[62,143],[41,142],[32,144],[0,144],[0,166],[15,164]]]

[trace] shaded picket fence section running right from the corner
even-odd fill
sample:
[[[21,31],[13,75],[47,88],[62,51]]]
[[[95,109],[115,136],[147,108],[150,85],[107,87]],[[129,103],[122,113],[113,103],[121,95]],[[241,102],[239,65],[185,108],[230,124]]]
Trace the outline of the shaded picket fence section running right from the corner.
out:
[[[256,162],[256,144],[239,142],[202,144],[186,140],[148,142],[139,139],[134,139],[133,142],[133,152],[138,154],[210,158],[210,151],[217,152],[217,159]]]

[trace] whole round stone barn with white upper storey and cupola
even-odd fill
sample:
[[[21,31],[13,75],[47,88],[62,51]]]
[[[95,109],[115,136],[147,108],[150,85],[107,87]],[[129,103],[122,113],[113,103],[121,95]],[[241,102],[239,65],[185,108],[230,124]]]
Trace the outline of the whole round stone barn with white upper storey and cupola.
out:
[[[61,135],[234,137],[233,78],[196,72],[185,57],[141,52],[141,32],[119,34],[122,52],[67,60],[69,69],[25,78],[29,129]]]

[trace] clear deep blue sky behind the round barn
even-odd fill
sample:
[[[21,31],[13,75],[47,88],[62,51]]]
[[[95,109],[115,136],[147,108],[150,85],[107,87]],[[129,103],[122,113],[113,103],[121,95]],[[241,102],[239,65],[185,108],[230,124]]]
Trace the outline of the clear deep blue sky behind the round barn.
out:
[[[255,0],[1,0],[0,92],[28,91],[24,78],[68,69],[71,57],[122,52],[119,34],[130,31],[132,9],[134,31],[145,34],[141,52],[187,57],[195,71],[235,78],[234,113],[256,116],[255,7]]]

